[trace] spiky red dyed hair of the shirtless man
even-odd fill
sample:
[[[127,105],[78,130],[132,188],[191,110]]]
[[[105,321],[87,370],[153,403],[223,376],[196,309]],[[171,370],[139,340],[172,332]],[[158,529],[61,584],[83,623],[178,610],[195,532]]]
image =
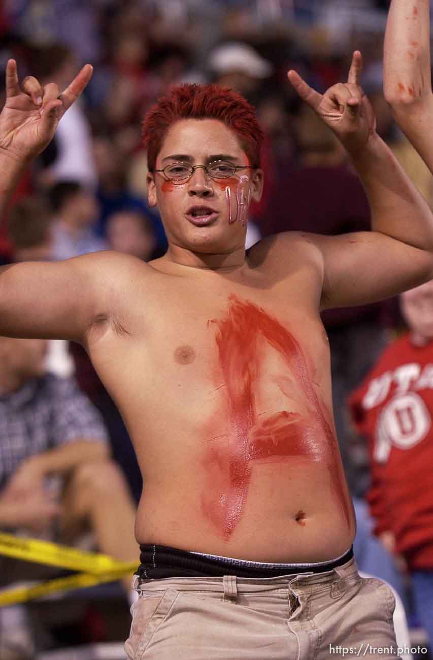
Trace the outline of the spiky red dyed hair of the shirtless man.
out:
[[[263,133],[253,106],[238,92],[216,84],[182,84],[158,99],[143,119],[143,142],[150,172],[155,168],[168,129],[179,119],[219,119],[236,133],[251,167],[260,167]]]

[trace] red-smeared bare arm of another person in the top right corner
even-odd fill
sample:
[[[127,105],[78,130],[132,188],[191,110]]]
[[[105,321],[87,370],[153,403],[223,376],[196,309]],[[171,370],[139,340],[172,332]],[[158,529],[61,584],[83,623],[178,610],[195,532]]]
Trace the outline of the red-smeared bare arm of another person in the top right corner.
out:
[[[402,131],[433,172],[429,0],[391,2],[385,32],[383,92]]]

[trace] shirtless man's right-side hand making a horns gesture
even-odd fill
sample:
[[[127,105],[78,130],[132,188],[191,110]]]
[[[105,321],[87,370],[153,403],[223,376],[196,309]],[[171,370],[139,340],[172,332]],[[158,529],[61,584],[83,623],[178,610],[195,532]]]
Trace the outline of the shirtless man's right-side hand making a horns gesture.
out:
[[[362,55],[353,53],[347,82],[330,87],[325,94],[312,89],[296,71],[287,77],[299,96],[333,130],[349,152],[358,152],[376,129],[376,119],[370,102],[360,87]]]

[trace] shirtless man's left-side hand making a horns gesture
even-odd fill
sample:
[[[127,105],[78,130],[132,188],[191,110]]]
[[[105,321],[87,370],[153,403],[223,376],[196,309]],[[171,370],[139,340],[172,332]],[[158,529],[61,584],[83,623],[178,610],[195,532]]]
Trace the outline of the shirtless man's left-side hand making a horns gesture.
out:
[[[50,143],[59,119],[83,92],[92,77],[86,64],[77,77],[59,94],[50,82],[42,88],[32,76],[18,82],[17,63],[6,67],[6,103],[0,114],[0,151],[20,162],[34,158]]]

